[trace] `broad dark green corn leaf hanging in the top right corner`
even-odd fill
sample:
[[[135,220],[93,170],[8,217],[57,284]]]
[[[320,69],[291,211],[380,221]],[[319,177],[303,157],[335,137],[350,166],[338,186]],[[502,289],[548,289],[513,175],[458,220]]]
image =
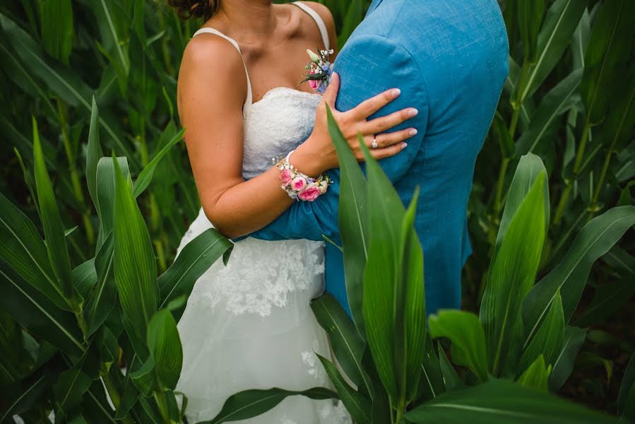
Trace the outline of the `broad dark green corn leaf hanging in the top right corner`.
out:
[[[595,19],[584,55],[581,93],[588,124],[605,119],[607,108],[621,95],[619,78],[631,54],[635,3],[630,0],[605,1]]]

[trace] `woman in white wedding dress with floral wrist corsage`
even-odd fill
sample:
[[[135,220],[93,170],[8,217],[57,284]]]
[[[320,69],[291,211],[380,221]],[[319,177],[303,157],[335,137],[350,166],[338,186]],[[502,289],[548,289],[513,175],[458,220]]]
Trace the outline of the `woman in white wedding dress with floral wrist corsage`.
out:
[[[182,18],[206,19],[187,45],[179,72],[179,115],[203,206],[179,252],[212,226],[227,237],[248,235],[294,201],[313,200],[328,189],[327,179],[318,179],[310,196],[298,189],[338,167],[326,105],[359,160],[357,131],[374,147],[375,158],[405,148],[410,129],[384,131],[409,119],[413,110],[367,121],[398,97],[398,89],[336,112],[336,73],[324,96],[311,93],[309,84],[299,86],[307,48],[336,50],[333,18],[325,6],[272,0],[168,3]],[[286,159],[274,166],[278,155]],[[289,177],[285,170],[303,182],[281,188],[281,179]],[[178,325],[184,358],[177,390],[188,398],[191,423],[213,418],[239,391],[331,387],[315,355],[332,358],[328,340],[309,307],[324,290],[323,274],[322,242],[247,237],[236,242],[227,266],[218,261],[198,279]],[[340,423],[347,416],[333,401],[293,396],[247,422]]]

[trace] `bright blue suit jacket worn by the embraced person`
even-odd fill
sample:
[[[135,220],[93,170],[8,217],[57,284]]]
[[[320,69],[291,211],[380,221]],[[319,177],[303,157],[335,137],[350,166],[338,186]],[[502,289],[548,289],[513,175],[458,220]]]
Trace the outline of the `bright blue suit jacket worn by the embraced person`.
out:
[[[382,160],[404,204],[421,187],[415,228],[425,258],[427,312],[461,307],[461,269],[471,253],[466,209],[474,165],[508,72],[508,41],[497,0],[375,0],[335,62],[337,109],[397,87],[381,116],[420,113],[399,128],[419,133]],[[314,202],[295,203],[251,237],[339,241],[339,170]],[[340,251],[326,244],[326,291],[349,312]]]

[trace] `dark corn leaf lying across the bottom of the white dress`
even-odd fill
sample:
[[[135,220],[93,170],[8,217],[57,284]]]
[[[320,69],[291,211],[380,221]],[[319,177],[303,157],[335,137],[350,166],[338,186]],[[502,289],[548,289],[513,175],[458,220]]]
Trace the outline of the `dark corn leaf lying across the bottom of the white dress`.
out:
[[[288,396],[302,395],[310,399],[336,399],[333,391],[314,387],[305,391],[289,391],[274,387],[268,390],[246,390],[230,396],[222,406],[218,416],[212,420],[201,421],[198,424],[220,424],[230,421],[247,420],[266,413],[280,404]]]

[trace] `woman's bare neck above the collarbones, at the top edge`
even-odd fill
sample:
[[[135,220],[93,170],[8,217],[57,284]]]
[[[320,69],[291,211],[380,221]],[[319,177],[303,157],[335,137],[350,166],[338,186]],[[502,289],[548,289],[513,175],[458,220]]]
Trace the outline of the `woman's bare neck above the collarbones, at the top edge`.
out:
[[[241,35],[271,35],[276,27],[272,0],[220,0],[215,15]]]

